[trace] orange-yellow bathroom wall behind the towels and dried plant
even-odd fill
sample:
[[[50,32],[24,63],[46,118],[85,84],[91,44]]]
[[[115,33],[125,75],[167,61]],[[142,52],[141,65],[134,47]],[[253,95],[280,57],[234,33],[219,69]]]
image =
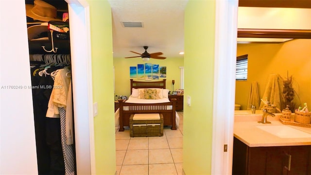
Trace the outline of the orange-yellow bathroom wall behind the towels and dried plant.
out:
[[[280,44],[238,44],[237,56],[248,54],[247,81],[236,81],[236,103],[247,108],[251,82],[259,84],[259,100],[265,90],[271,73],[280,74],[283,79],[294,77],[294,90],[300,101],[311,108],[311,39],[295,39]]]

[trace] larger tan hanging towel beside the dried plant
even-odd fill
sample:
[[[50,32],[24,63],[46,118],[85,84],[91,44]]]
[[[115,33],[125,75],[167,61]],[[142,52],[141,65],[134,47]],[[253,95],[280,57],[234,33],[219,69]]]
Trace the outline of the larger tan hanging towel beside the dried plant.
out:
[[[284,109],[283,78],[279,74],[269,75],[262,100],[267,100],[271,105],[276,105],[278,110]],[[261,101],[260,109],[263,108],[263,105],[264,103]]]

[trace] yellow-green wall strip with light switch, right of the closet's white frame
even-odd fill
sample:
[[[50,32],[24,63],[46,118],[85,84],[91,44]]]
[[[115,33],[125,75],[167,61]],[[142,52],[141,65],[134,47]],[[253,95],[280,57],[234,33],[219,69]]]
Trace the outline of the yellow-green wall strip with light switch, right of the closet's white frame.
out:
[[[107,0],[88,0],[90,9],[96,174],[116,172],[113,97],[112,17]]]

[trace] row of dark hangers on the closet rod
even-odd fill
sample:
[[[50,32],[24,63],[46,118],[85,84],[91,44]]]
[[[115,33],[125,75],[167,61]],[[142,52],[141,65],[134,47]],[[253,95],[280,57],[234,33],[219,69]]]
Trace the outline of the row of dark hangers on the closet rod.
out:
[[[70,54],[30,54],[29,58],[30,58],[30,61],[42,61],[46,64],[64,63],[66,65],[69,65],[71,63]]]

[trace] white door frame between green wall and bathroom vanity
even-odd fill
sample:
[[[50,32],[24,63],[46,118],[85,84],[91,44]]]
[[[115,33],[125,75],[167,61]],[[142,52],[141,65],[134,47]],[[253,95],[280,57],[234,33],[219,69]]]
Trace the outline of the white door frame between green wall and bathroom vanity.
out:
[[[216,0],[212,175],[232,174],[238,2]]]

